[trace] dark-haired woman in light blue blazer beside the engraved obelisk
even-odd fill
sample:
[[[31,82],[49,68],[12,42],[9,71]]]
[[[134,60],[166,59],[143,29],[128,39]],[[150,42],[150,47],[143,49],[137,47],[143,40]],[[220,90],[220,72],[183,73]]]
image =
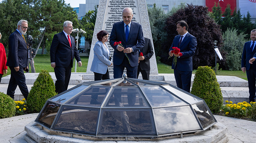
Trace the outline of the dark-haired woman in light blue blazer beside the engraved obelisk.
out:
[[[97,34],[99,41],[94,46],[93,63],[91,64],[91,71],[94,72],[94,80],[110,79],[108,67],[112,65],[109,59],[110,50],[105,44],[108,41],[109,33],[102,30]],[[91,96],[90,104],[100,104],[97,100],[98,96]]]

